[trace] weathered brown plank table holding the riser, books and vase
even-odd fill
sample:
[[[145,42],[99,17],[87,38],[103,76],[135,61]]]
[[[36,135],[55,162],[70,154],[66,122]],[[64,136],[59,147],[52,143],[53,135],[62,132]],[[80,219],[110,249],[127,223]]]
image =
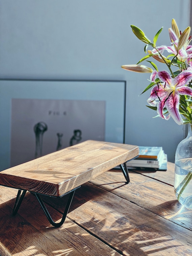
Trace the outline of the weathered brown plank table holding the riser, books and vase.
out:
[[[0,187],[0,254],[192,255],[192,211],[175,199],[174,164],[168,163],[167,171],[130,172],[129,177],[126,184],[120,170],[111,170],[82,185],[59,228],[50,225],[29,192],[12,216],[17,190]],[[66,198],[44,200],[59,220]]]

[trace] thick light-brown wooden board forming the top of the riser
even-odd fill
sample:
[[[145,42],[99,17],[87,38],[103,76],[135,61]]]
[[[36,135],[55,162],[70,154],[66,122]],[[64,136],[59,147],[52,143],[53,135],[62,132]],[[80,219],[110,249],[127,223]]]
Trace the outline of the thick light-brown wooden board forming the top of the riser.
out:
[[[138,147],[88,140],[0,172],[0,185],[52,196],[90,181],[138,155]]]

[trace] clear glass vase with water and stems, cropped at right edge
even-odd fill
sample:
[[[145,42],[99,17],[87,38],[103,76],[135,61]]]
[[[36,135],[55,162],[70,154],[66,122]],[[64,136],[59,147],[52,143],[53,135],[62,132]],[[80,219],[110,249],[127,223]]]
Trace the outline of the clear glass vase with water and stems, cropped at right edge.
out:
[[[192,209],[192,125],[188,125],[188,135],[175,152],[174,193],[178,201]]]

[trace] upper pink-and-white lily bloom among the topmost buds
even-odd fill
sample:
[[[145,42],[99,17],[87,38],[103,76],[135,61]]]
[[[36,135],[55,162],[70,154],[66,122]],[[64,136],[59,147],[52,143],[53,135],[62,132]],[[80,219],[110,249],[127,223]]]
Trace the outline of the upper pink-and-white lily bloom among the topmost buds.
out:
[[[179,38],[175,35],[173,30],[169,28],[169,37],[171,40],[172,46],[166,46],[166,45],[161,45],[156,47],[156,49],[163,54],[164,50],[166,50],[168,53],[172,53],[174,55],[177,55],[177,58],[179,61],[184,62],[190,60],[192,58],[192,45],[188,45],[188,42],[177,52],[177,46],[178,46],[178,40]],[[156,49],[152,50],[152,54],[158,55],[158,51]]]

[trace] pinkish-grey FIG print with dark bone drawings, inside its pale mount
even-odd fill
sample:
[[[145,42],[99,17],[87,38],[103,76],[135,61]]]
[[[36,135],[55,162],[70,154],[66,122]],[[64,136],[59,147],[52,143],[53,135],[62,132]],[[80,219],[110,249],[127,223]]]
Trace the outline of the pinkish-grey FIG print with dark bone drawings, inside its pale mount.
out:
[[[88,139],[104,141],[105,101],[11,100],[11,166]]]

